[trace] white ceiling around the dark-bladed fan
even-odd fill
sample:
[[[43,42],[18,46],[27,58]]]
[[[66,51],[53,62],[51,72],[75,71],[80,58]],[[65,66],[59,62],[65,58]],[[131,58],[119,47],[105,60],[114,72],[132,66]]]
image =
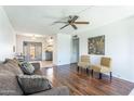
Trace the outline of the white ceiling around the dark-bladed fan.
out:
[[[8,5],[3,7],[14,29],[17,33],[57,34],[76,33],[92,29],[118,20],[134,15],[134,7],[97,7],[97,5]],[[88,21],[89,25],[78,25],[78,30],[64,24],[52,25],[53,22],[68,15],[79,15],[78,21]]]

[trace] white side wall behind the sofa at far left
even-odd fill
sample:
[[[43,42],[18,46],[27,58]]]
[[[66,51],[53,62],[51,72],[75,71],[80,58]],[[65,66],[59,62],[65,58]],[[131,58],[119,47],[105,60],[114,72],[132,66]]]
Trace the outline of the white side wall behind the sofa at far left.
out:
[[[2,7],[0,7],[0,61],[13,58],[15,33]]]

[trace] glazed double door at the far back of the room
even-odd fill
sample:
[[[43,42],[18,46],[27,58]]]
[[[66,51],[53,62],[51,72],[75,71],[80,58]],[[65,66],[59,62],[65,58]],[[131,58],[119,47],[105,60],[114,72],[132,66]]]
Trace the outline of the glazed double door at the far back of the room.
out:
[[[42,61],[42,43],[41,42],[23,42],[25,61]]]

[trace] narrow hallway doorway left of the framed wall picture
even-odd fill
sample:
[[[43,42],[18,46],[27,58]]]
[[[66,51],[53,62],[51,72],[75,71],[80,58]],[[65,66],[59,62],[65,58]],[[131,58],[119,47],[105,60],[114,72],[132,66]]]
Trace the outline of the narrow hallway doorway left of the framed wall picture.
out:
[[[79,38],[72,37],[72,54],[71,63],[77,63],[79,61]]]

